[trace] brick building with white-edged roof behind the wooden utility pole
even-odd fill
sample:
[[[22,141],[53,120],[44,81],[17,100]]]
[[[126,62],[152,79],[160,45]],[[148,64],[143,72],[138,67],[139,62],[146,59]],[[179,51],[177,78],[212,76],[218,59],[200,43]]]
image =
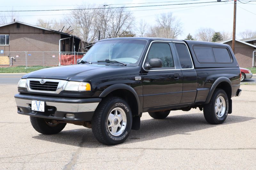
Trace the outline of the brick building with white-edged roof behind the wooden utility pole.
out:
[[[232,39],[219,41],[232,47]],[[256,46],[241,40],[236,40],[235,56],[240,67],[256,67]]]

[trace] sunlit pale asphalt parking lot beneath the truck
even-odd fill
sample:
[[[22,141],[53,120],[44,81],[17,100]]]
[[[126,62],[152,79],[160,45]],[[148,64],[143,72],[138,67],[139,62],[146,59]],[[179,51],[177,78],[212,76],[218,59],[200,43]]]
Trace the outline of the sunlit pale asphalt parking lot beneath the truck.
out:
[[[139,131],[105,146],[91,129],[72,124],[39,134],[16,112],[17,85],[0,85],[0,169],[256,169],[256,85],[241,88],[221,125],[208,124],[199,109],[164,120],[144,113]]]

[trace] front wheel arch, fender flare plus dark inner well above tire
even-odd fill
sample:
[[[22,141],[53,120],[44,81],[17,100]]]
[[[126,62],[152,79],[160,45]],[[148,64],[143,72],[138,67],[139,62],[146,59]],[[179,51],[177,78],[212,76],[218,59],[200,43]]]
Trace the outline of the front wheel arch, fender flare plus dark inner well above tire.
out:
[[[125,84],[111,85],[100,94],[100,98],[109,95],[123,98],[131,107],[132,115],[140,114],[140,100],[131,86]]]

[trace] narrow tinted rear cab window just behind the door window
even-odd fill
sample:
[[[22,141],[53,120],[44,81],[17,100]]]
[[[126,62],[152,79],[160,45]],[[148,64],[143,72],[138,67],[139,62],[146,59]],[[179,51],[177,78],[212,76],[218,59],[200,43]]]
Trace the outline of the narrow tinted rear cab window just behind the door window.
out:
[[[191,58],[188,52],[188,48],[185,44],[176,43],[175,47],[180,58],[180,65],[182,69],[192,68]]]

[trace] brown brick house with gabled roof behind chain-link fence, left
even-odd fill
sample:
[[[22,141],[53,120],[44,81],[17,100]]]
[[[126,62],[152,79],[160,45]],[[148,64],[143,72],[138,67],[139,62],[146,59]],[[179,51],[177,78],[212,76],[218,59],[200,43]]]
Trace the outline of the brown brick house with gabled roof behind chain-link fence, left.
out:
[[[41,60],[45,65],[56,65],[60,51],[82,52],[84,45],[85,42],[74,35],[20,21],[0,25],[0,65],[9,65],[10,62],[25,65],[25,62]],[[25,55],[28,61],[25,61]]]

